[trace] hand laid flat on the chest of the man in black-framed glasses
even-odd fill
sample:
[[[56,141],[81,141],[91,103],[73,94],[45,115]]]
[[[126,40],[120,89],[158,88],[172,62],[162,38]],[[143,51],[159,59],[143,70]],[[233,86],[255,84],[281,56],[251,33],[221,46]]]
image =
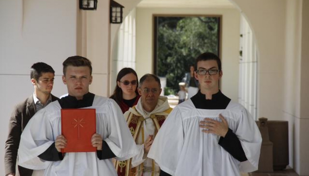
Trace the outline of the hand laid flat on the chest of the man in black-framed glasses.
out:
[[[221,122],[211,118],[204,118],[204,120],[199,122],[199,127],[201,127],[203,129],[202,131],[205,133],[213,133],[225,137],[229,126],[226,119],[221,114],[219,114],[219,118]]]

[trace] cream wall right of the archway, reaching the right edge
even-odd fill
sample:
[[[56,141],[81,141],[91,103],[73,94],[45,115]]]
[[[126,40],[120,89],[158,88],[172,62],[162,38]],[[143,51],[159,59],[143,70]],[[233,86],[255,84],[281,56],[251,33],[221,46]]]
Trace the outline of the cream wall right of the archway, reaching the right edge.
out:
[[[258,44],[258,116],[289,121],[290,166],[309,175],[308,1],[232,2],[247,17]]]

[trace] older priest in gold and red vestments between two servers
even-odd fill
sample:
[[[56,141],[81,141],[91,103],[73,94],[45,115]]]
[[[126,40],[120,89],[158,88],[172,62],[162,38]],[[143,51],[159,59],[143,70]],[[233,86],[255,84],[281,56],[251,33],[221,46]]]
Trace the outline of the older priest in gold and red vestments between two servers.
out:
[[[118,176],[159,176],[159,165],[147,158],[147,153],[155,135],[172,111],[167,97],[160,96],[161,90],[160,79],[156,75],[146,74],[141,77],[138,87],[141,98],[137,105],[124,114],[139,153],[130,160],[116,162]]]

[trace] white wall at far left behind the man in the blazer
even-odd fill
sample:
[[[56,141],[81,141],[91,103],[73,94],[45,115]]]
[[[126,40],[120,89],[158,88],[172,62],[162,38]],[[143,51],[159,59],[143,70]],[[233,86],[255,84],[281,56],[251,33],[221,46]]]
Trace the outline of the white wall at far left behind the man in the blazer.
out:
[[[29,69],[46,62],[55,70],[52,93],[65,94],[62,62],[76,55],[77,1],[0,1],[0,173],[4,143],[14,105],[33,93]]]

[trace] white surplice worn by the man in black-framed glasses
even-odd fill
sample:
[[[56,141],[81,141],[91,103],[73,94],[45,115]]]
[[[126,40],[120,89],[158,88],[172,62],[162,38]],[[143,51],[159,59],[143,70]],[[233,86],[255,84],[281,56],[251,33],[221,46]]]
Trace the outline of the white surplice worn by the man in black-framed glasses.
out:
[[[204,118],[221,121],[219,114],[239,138],[247,161],[236,160],[218,144],[220,136],[199,127]],[[169,114],[147,157],[173,176],[240,176],[258,169],[261,143],[255,121],[239,103],[230,102],[226,109],[196,109],[189,99]]]

